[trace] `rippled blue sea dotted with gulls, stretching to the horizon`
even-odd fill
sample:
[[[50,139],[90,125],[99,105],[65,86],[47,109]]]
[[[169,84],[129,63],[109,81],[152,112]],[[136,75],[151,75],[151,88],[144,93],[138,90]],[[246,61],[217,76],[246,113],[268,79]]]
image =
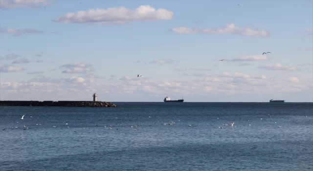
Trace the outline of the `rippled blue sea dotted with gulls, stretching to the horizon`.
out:
[[[313,171],[313,103],[114,104],[0,107],[0,171]]]

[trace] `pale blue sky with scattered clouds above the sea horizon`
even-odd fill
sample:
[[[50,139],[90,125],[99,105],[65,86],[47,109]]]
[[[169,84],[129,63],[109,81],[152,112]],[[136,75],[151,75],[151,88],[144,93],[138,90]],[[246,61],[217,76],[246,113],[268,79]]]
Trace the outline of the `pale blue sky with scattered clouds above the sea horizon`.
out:
[[[94,92],[313,102],[313,1],[0,0],[0,100]]]

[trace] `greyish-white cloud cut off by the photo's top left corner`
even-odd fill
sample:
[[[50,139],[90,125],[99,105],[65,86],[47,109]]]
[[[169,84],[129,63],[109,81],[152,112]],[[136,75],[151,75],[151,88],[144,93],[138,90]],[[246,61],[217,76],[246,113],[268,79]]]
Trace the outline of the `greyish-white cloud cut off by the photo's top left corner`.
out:
[[[47,4],[47,0],[0,0],[0,8],[38,8]]]

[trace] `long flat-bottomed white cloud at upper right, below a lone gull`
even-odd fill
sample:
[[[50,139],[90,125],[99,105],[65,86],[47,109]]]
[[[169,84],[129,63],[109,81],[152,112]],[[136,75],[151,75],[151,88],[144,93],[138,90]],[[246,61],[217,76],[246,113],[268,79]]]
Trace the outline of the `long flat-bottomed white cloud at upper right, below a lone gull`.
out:
[[[268,31],[265,30],[253,30],[250,27],[238,27],[234,23],[226,24],[223,28],[218,29],[192,29],[187,27],[176,27],[172,28],[172,31],[180,34],[189,33],[201,33],[201,34],[237,34],[245,36],[256,36],[256,37],[267,37],[269,35]]]

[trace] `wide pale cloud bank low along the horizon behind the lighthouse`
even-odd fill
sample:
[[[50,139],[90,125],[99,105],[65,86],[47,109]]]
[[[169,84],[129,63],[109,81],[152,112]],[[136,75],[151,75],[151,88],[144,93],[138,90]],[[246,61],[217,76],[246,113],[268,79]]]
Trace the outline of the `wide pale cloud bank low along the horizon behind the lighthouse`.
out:
[[[89,75],[73,76],[66,78],[36,77],[26,82],[0,83],[1,100],[13,100],[19,93],[22,100],[91,100],[91,94],[97,92],[99,100],[103,101],[149,101],[157,97],[162,100],[164,94],[171,97],[221,95],[268,95],[278,92],[310,91],[310,83],[294,81],[293,79],[274,79],[265,75],[249,75],[246,73],[222,72],[221,75],[211,75],[192,81],[179,80],[152,80],[149,78],[138,79],[123,76],[120,79],[102,81],[92,79]],[[291,81],[293,80],[293,81]],[[79,93],[77,93],[79,92]],[[129,97],[127,100],[126,98]],[[119,99],[115,99],[119,98]],[[239,100],[244,98],[238,97]]]

